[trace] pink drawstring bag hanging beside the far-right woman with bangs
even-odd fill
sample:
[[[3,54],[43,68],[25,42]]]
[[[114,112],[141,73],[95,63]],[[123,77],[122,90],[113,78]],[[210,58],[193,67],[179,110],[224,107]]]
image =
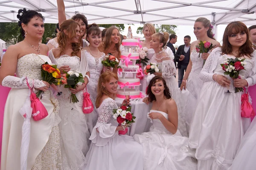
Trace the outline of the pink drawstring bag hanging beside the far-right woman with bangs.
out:
[[[253,110],[252,105],[249,103],[249,95],[248,93],[244,93],[241,96],[241,117],[243,118],[251,118],[255,116],[255,112]]]

